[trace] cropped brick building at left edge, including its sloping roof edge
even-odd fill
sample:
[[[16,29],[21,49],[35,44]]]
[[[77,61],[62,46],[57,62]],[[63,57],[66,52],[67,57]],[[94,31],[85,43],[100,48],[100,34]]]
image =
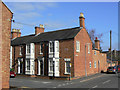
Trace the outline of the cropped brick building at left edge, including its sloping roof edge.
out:
[[[0,90],[9,88],[12,15],[10,9],[0,0]]]

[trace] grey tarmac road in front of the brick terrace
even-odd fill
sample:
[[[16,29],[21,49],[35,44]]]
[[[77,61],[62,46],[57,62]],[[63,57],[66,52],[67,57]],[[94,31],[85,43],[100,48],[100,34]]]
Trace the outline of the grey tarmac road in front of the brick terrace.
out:
[[[118,74],[96,74],[77,80],[48,80],[30,77],[10,78],[10,86],[18,88],[118,88]]]

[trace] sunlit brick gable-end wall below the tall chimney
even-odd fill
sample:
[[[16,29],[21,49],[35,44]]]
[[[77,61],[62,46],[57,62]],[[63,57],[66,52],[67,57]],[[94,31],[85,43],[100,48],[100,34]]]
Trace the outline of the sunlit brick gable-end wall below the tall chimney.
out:
[[[80,52],[76,52],[76,41],[80,42]],[[92,42],[87,31],[83,28],[74,39],[74,73],[75,77],[85,75],[85,44],[90,43],[90,53],[88,54],[88,46],[86,47],[86,69],[87,75],[93,74],[93,68],[89,67],[92,62]]]

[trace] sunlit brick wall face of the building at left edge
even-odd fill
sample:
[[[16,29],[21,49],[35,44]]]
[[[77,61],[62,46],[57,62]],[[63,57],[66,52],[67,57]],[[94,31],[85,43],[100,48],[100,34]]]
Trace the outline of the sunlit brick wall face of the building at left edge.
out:
[[[2,3],[2,88],[9,88],[11,19],[12,13]]]

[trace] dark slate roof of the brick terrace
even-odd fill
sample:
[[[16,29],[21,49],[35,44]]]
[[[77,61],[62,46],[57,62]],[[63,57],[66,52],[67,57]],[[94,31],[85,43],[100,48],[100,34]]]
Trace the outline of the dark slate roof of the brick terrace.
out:
[[[44,32],[38,35],[18,37],[11,41],[11,45],[22,45],[27,43],[38,43],[42,41],[65,40],[74,38],[80,31],[80,27],[68,28],[63,30]]]

